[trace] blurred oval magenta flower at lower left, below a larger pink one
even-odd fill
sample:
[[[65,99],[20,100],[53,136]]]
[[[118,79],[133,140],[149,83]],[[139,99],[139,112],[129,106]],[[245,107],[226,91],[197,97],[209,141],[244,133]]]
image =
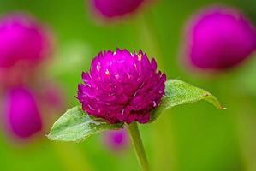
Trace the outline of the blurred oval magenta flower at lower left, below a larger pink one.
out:
[[[6,126],[15,137],[26,139],[41,131],[39,107],[32,91],[24,87],[11,89],[5,102]]]

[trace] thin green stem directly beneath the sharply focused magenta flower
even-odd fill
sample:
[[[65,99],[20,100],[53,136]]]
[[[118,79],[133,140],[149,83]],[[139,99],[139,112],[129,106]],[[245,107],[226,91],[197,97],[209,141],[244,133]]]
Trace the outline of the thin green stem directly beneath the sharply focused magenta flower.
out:
[[[146,153],[142,144],[140,131],[136,121],[128,125],[128,131],[141,169],[143,171],[149,171],[150,169],[146,159]]]

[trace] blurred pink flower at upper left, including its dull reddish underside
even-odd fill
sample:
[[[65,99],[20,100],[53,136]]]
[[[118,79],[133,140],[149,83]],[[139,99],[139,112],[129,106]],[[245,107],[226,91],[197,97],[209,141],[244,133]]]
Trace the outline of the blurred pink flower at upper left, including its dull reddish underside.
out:
[[[51,52],[50,35],[28,15],[6,15],[0,19],[0,82],[15,84]]]

